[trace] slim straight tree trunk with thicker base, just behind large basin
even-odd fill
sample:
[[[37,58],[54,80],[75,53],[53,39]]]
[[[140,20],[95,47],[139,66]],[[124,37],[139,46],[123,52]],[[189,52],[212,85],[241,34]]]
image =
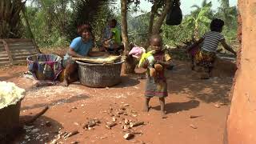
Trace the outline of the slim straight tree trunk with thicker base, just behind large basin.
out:
[[[122,23],[122,43],[125,48],[124,54],[126,56],[126,62],[124,63],[124,72],[126,74],[134,73],[135,62],[134,58],[129,56],[130,46],[127,33],[127,1],[121,0],[121,23]]]

